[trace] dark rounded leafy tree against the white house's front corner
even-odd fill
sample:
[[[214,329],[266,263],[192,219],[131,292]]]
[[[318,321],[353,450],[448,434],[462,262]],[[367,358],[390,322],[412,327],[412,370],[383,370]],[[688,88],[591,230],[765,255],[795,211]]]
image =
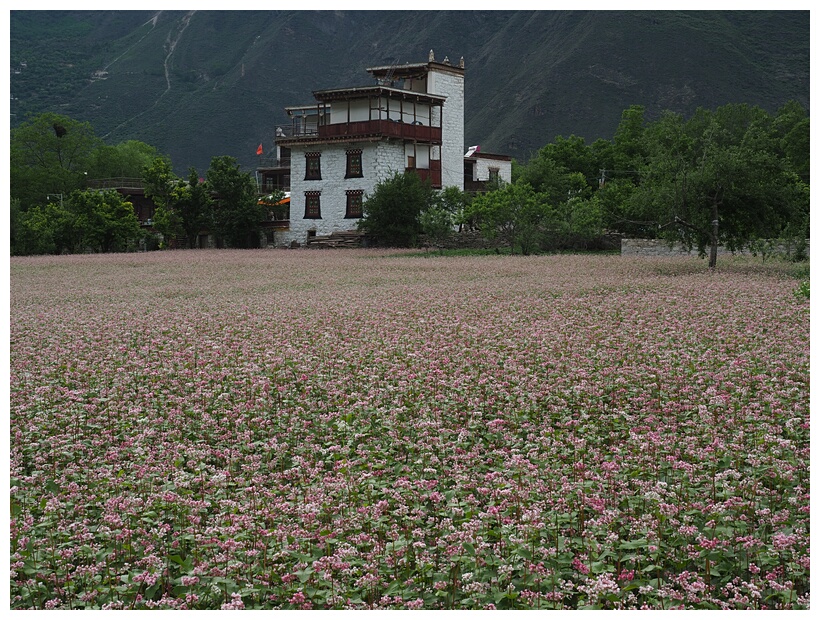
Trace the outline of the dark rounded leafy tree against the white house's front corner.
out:
[[[430,184],[415,172],[397,172],[367,196],[359,228],[384,246],[407,247],[423,232],[420,216],[434,200]]]

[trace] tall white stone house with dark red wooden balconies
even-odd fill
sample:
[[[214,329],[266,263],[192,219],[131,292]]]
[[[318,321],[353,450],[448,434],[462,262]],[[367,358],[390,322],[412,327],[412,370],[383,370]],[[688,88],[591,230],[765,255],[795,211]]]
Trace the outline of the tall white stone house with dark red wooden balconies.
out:
[[[437,62],[431,51],[428,62],[367,71],[375,85],[314,91],[315,104],[286,108],[279,167],[259,170],[263,191],[289,181],[289,221],[276,245],[355,229],[363,199],[396,172],[464,189],[464,60]]]

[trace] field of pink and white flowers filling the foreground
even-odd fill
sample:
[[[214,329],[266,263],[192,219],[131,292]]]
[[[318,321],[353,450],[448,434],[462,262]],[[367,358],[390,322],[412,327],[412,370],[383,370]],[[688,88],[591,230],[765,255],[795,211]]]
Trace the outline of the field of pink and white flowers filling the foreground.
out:
[[[807,608],[786,266],[11,259],[11,607]]]

